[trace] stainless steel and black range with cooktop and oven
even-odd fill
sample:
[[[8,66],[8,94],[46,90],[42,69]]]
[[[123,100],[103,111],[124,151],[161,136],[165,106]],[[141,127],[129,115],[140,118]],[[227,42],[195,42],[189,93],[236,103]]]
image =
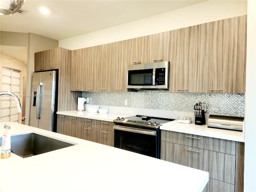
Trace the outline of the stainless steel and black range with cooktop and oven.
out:
[[[174,119],[136,115],[116,118],[114,147],[160,158],[160,125]]]

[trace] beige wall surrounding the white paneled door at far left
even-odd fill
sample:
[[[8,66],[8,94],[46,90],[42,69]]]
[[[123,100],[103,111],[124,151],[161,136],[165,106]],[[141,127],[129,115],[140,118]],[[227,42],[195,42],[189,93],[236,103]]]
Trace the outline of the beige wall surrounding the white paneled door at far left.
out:
[[[23,77],[24,74],[26,72],[26,64],[24,64],[24,62],[19,61],[15,58],[12,58],[6,54],[0,54],[0,76],[2,77],[2,67],[7,67],[7,68],[11,68],[11,69],[15,69],[20,71],[20,104],[21,107],[23,109]],[[0,78],[0,85],[2,83],[2,78]],[[4,91],[2,90],[2,87],[0,86],[0,91]],[[19,114],[19,123],[21,123],[22,121],[22,113]]]

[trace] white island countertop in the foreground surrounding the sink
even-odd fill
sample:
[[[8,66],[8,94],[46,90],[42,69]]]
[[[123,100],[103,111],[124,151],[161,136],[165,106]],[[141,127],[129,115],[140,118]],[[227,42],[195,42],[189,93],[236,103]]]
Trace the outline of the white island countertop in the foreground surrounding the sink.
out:
[[[0,133],[4,124],[0,123]],[[33,132],[76,145],[25,159],[15,154],[0,159],[1,192],[196,192],[208,182],[208,172],[14,122],[6,124],[12,135]]]

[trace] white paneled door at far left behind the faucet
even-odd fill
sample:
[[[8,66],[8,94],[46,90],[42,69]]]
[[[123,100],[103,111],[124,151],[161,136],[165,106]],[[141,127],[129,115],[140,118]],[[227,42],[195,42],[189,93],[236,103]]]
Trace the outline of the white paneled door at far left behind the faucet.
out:
[[[20,96],[20,71],[2,67],[2,91],[10,91]],[[1,96],[1,122],[18,122],[19,113],[14,98],[9,95]]]

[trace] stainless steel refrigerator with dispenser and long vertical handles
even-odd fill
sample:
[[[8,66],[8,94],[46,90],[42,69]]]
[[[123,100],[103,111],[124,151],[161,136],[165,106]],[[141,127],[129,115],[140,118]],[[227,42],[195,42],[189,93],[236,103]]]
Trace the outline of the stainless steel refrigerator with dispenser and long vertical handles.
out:
[[[58,70],[34,72],[30,105],[30,126],[56,132]]]

